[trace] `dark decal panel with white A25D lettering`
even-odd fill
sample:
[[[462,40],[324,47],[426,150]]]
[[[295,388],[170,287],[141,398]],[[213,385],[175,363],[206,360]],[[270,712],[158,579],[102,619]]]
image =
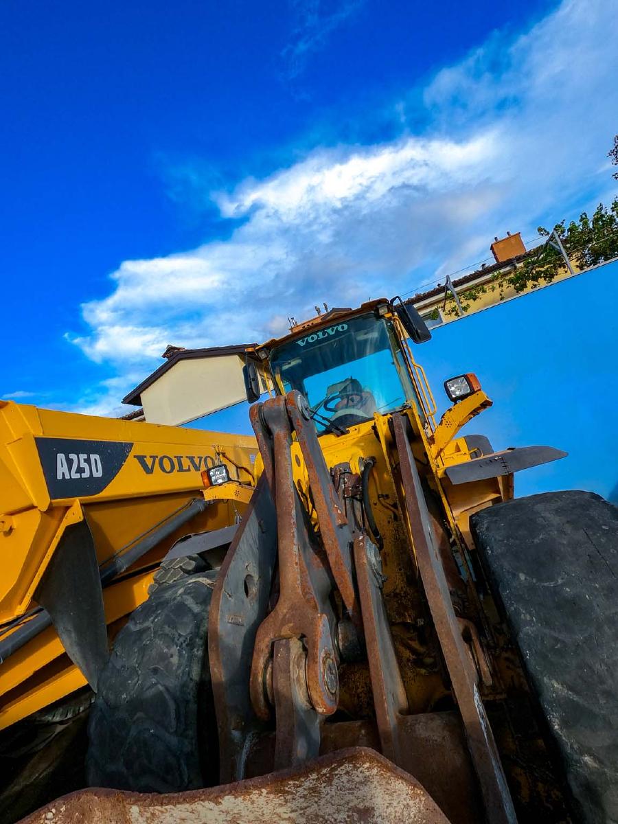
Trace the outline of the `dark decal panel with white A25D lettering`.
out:
[[[97,495],[118,475],[133,443],[35,438],[49,497]]]

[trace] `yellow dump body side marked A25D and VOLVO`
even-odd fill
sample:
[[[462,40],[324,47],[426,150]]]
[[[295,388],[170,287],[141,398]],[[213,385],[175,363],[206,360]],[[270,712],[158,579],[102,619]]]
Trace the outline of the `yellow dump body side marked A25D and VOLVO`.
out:
[[[204,489],[202,471],[224,463],[241,480],[238,466],[252,471],[256,451],[246,436],[2,405],[0,623],[26,611],[76,502],[99,533],[102,563]]]

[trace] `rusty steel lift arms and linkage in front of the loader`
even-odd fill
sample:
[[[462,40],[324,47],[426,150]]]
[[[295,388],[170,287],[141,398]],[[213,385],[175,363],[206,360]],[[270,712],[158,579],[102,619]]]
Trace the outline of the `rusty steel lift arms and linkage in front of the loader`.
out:
[[[276,733],[270,769],[299,765],[319,754],[325,720],[338,706],[338,667],[349,646],[367,650],[382,753],[414,775],[410,710],[382,597],[381,555],[363,526],[362,512],[354,510],[358,502],[346,498],[344,485],[335,489],[298,391],[255,405],[251,422],[265,470],[223,564],[210,614],[220,780],[241,780],[251,769],[255,774],[250,764],[260,757],[260,732],[272,714]],[[410,551],[438,631],[485,814],[492,824],[515,822],[449,596],[410,447],[409,420],[395,414],[392,425]],[[293,453],[294,435],[300,455]],[[293,461],[300,466],[301,456],[307,495],[294,484]],[[303,499],[311,499],[313,521]],[[264,766],[256,771],[265,771]]]

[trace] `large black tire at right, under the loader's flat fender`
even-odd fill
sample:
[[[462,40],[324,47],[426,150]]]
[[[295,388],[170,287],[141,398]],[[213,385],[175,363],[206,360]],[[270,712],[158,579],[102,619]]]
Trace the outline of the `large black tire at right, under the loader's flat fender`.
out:
[[[484,509],[471,526],[579,820],[618,822],[618,509],[547,493]]]

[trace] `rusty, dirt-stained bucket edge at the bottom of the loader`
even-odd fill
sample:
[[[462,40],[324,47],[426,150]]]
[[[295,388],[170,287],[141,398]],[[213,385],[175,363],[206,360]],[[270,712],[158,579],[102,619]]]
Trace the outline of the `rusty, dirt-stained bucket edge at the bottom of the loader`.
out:
[[[421,784],[355,747],[297,770],[172,795],[88,789],[21,824],[449,824]]]

